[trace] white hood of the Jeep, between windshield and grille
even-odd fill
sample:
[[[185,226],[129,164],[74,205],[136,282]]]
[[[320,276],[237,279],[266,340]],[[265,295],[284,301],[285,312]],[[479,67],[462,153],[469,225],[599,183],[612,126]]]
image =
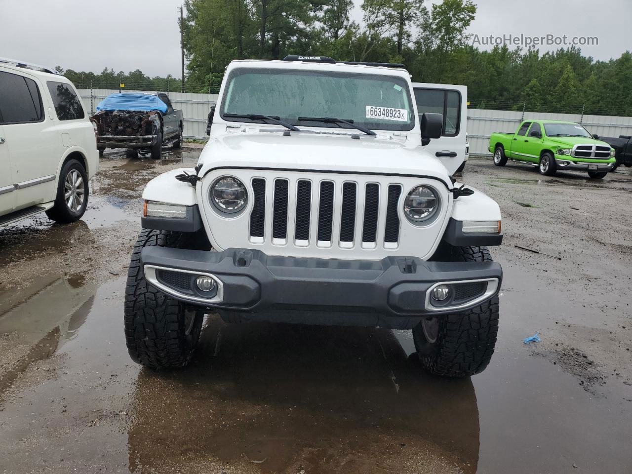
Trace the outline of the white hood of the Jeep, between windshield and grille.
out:
[[[207,143],[200,155],[204,176],[218,167],[281,168],[348,173],[412,174],[439,178],[451,186],[441,161],[419,145],[391,139],[279,131],[245,131]]]

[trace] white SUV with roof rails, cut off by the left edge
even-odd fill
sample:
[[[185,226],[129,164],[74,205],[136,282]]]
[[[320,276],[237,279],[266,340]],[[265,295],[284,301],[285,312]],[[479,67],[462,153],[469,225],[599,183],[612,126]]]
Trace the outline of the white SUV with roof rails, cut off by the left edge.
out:
[[[80,219],[98,167],[94,128],[72,83],[0,58],[0,226],[39,212]]]

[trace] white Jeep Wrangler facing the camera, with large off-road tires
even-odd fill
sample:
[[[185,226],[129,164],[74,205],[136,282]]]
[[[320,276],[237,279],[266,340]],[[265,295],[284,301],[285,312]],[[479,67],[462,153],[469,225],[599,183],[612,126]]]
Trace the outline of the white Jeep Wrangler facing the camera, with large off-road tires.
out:
[[[153,368],[186,365],[205,313],[226,322],[412,329],[422,365],[465,376],[498,329],[498,205],[424,146],[398,64],[233,61],[195,169],[152,179],[125,334]],[[445,166],[444,166],[445,165]]]

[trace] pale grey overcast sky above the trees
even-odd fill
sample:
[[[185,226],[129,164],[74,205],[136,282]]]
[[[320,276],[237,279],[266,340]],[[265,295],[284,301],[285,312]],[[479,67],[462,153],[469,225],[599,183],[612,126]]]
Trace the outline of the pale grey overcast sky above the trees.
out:
[[[426,0],[431,3],[431,0]],[[437,3],[438,0],[432,0]],[[0,0],[0,56],[76,71],[142,70],[180,76],[181,0]],[[361,13],[355,0],[354,18]],[[482,37],[595,36],[595,59],[632,50],[631,0],[475,0],[470,32]],[[482,49],[489,49],[479,46]],[[556,49],[541,46],[540,51]]]

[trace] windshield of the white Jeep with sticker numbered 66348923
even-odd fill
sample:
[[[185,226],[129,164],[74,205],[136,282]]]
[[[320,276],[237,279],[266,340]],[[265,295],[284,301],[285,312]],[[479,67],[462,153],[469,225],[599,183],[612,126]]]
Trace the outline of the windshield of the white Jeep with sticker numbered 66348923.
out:
[[[313,119],[343,119],[377,130],[415,126],[406,80],[366,73],[238,68],[228,78],[220,115],[229,121],[262,123],[224,114],[264,114],[296,126],[351,130],[345,123]]]

